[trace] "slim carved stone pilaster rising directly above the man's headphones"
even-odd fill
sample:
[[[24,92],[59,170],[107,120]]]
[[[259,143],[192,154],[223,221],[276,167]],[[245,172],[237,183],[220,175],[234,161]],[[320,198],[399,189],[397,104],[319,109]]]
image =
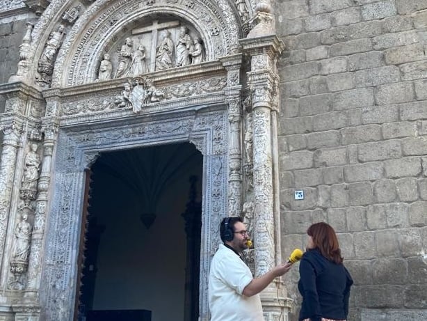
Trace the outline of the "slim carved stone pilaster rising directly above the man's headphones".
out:
[[[241,54],[221,58],[227,70],[227,87],[224,89],[228,104],[229,120],[229,179],[228,179],[228,216],[241,215],[242,202],[242,153],[241,153]]]

